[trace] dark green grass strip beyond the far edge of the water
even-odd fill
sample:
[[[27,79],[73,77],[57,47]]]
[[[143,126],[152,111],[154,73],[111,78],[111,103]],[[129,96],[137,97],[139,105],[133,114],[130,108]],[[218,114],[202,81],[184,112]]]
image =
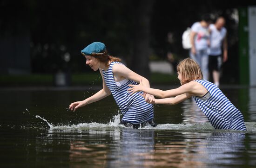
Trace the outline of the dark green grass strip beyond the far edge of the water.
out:
[[[98,72],[72,74],[72,86],[101,85],[101,75]],[[153,85],[179,84],[176,75],[152,73],[149,81]],[[31,74],[31,75],[0,75],[1,87],[25,87],[25,86],[54,86],[54,75]]]

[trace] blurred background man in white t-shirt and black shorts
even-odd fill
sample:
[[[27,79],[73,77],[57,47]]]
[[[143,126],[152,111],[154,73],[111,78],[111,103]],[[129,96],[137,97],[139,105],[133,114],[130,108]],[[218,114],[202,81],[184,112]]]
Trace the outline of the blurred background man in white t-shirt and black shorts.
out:
[[[220,70],[222,62],[228,60],[227,30],[224,27],[225,19],[219,17],[215,24],[209,25],[210,29],[210,53],[209,53],[209,72],[212,73],[213,81],[219,86]],[[222,59],[223,47],[223,59]]]

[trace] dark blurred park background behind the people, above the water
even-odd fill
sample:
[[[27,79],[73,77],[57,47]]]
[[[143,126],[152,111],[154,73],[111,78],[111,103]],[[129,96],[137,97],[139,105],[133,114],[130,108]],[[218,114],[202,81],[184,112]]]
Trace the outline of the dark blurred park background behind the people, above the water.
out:
[[[0,0],[0,86],[101,84],[80,52],[94,41],[153,84],[179,84],[182,33],[204,13],[226,19],[221,84],[253,86],[256,0]]]

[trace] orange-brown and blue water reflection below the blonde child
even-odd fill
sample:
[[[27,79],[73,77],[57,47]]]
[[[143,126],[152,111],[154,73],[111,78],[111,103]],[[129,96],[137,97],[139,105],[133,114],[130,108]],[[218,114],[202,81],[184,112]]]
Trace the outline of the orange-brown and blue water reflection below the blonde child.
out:
[[[244,149],[243,133],[184,132],[182,134],[183,141],[156,143],[154,159],[161,160],[157,162],[157,166],[214,168],[225,164],[243,164],[241,160],[236,162],[238,157],[242,157],[241,151]]]

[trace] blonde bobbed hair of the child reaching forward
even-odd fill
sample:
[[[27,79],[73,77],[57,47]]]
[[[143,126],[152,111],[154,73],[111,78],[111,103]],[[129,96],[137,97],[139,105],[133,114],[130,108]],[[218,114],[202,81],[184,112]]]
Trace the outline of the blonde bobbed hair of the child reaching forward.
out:
[[[188,83],[190,81],[194,81],[197,79],[202,79],[202,71],[195,60],[191,58],[186,58],[182,60],[178,65],[177,65],[177,71],[179,71],[181,75],[181,83],[182,85],[185,83]]]

